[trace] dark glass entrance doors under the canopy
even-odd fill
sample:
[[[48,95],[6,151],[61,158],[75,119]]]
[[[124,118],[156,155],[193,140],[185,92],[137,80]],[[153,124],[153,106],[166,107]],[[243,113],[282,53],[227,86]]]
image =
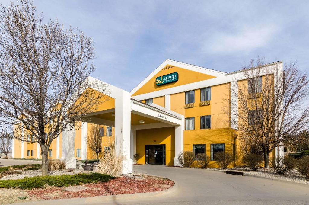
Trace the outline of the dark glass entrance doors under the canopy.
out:
[[[165,165],[165,144],[146,145],[146,164]]]

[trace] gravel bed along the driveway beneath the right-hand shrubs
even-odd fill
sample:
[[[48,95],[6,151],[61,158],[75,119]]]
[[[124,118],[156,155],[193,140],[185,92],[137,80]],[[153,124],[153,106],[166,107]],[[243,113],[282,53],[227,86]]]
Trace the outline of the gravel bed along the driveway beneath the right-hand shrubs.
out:
[[[208,168],[208,169],[224,170],[224,171],[226,170],[243,171],[243,172],[249,172],[249,174],[254,174],[254,175],[262,176],[262,177],[268,177],[271,179],[281,179],[285,181],[297,182],[297,183],[309,185],[309,179],[306,179],[305,177],[303,177],[303,175],[301,175],[298,172],[298,170],[293,170],[292,172],[285,173],[285,174],[277,174],[270,168],[260,168],[257,171],[251,171],[248,167],[235,167],[231,169],[216,169],[216,168]]]

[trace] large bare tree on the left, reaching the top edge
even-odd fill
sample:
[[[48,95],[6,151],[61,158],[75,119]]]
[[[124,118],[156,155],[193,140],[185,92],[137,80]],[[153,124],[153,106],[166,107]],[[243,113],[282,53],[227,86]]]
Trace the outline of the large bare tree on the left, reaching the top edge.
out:
[[[18,2],[1,5],[0,124],[15,127],[12,139],[28,142],[23,132],[34,135],[48,175],[52,141],[98,108],[106,86],[88,78],[95,70],[91,38],[57,19],[45,24],[33,2]]]

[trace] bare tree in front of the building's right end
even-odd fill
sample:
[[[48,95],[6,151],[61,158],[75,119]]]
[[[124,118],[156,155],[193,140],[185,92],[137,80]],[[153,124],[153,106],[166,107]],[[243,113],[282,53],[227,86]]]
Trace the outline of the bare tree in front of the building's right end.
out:
[[[296,62],[285,64],[283,72],[277,64],[264,65],[254,60],[244,68],[237,86],[231,86],[231,117],[238,124],[241,140],[259,145],[263,150],[264,166],[269,167],[269,153],[297,136],[309,124],[309,79]]]

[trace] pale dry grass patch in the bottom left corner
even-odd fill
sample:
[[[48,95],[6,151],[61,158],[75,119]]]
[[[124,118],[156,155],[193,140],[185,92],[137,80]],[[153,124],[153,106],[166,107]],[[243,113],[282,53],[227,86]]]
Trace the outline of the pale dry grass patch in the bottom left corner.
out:
[[[18,203],[30,201],[29,195],[25,190],[0,189],[0,204]]]

